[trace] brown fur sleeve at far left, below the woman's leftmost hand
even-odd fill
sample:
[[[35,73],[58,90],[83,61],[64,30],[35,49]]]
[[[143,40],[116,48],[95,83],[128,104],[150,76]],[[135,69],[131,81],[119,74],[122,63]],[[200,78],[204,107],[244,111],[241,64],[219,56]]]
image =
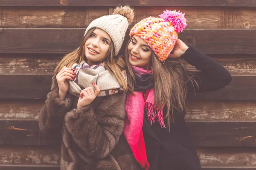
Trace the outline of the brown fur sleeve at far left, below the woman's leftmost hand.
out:
[[[41,132],[48,134],[60,130],[64,122],[65,114],[70,111],[71,98],[59,99],[56,79],[52,80],[52,87],[43,108],[39,113],[39,128]]]

